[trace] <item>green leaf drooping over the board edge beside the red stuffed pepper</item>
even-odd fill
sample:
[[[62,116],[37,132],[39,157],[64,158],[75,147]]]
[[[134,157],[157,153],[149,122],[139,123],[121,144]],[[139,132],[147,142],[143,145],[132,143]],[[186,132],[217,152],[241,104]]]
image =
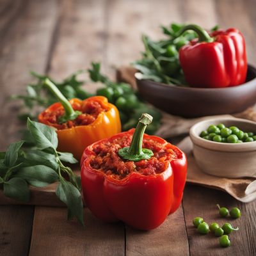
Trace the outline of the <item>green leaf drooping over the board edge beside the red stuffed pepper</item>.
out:
[[[83,201],[79,190],[69,181],[62,179],[56,195],[68,207],[68,218],[76,216],[77,220],[84,225]]]

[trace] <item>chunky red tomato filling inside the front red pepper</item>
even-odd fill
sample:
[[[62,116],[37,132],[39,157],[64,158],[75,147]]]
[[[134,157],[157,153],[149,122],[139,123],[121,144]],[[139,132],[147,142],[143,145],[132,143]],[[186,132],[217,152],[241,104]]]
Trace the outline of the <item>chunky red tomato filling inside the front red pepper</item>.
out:
[[[118,156],[118,150],[129,147],[131,140],[132,134],[128,134],[97,143],[93,147],[95,155],[90,161],[90,165],[94,170],[104,172],[113,179],[121,180],[132,172],[138,172],[146,176],[164,172],[170,161],[180,157],[179,150],[173,147],[172,144],[144,138],[143,148],[151,149],[154,156],[138,162],[124,160]]]

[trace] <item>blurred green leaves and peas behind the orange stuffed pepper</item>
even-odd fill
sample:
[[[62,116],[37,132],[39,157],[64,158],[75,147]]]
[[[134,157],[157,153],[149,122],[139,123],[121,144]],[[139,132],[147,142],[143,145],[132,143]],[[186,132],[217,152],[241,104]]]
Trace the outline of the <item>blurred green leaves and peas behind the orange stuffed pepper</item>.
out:
[[[148,106],[147,102],[141,98],[138,92],[132,89],[130,84],[115,83],[107,76],[101,74],[100,63],[94,62],[92,62],[92,66],[87,70],[77,70],[59,83],[52,79],[52,77],[31,72],[31,75],[37,81],[26,86],[26,94],[12,95],[12,99],[20,99],[23,102],[19,118],[26,120],[29,117],[31,120],[36,120],[38,111],[56,102],[54,95],[44,86],[45,79],[56,84],[57,88],[68,100],[73,98],[87,99],[95,95],[86,91],[86,81],[78,79],[78,76],[83,73],[89,75],[90,83],[102,83],[102,87],[95,94],[108,98],[108,101],[118,108],[122,122],[122,131],[136,127],[138,118],[140,118],[142,113],[148,113],[154,118],[152,124],[148,126],[147,133],[154,134],[157,131],[161,125],[161,113],[156,108]]]

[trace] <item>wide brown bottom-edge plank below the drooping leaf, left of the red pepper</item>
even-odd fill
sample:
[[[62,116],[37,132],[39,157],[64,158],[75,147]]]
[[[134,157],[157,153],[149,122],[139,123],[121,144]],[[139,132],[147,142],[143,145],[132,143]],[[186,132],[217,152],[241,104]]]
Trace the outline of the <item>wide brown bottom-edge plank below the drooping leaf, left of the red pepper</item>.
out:
[[[124,255],[124,226],[103,223],[84,209],[85,227],[67,221],[67,210],[36,207],[29,256]]]

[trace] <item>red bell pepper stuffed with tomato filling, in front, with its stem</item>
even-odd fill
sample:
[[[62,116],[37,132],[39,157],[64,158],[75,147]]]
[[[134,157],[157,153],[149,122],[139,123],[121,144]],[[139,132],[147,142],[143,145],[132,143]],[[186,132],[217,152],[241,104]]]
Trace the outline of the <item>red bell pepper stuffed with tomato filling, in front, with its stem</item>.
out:
[[[144,134],[152,120],[148,116],[141,116],[136,130],[88,146],[81,158],[83,195],[90,211],[101,220],[121,220],[141,230],[158,227],[177,210],[187,173],[186,156],[179,148]]]

